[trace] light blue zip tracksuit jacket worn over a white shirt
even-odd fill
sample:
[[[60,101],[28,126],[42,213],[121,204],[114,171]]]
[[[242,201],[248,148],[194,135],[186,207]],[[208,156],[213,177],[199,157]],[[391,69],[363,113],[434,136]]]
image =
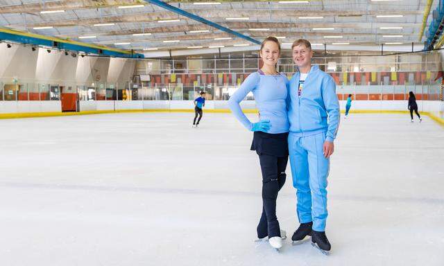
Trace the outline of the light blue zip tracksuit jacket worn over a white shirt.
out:
[[[289,104],[290,132],[297,136],[310,136],[327,132],[326,141],[333,142],[339,128],[339,100],[332,76],[311,67],[298,96],[299,72],[290,80]],[[328,119],[327,119],[328,117]]]

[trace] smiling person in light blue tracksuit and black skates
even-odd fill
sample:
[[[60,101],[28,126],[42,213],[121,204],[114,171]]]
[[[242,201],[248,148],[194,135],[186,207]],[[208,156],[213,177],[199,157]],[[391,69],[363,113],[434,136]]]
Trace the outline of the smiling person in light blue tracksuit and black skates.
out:
[[[289,86],[289,155],[300,222],[291,239],[298,243],[311,236],[312,244],[329,254],[327,176],[339,127],[339,100],[333,78],[311,66],[310,42],[298,39],[291,49],[299,72]]]

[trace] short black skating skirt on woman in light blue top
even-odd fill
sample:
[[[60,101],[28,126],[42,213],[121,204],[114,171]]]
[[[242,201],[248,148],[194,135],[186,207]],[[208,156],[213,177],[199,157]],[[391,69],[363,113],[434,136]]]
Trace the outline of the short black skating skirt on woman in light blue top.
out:
[[[255,150],[258,155],[268,154],[275,157],[289,155],[288,133],[270,134],[256,131],[253,135],[253,143],[250,150]]]

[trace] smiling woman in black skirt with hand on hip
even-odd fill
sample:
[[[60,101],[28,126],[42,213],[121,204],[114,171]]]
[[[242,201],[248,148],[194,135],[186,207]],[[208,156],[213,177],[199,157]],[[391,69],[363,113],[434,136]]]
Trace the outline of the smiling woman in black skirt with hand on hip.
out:
[[[280,43],[275,37],[262,42],[259,55],[264,66],[251,73],[241,87],[231,96],[228,105],[244,127],[253,131],[251,150],[259,155],[262,170],[262,216],[257,225],[257,237],[266,238],[272,247],[279,250],[285,231],[281,231],[276,218],[278,191],[285,183],[289,157],[287,136],[287,87],[289,80],[276,71],[280,57]],[[251,123],[239,105],[253,91],[259,109],[259,122]]]

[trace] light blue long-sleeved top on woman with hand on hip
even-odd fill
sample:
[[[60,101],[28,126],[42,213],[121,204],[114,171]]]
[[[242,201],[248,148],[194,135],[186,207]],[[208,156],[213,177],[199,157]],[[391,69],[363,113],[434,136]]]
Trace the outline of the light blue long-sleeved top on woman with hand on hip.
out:
[[[270,121],[271,128],[267,133],[278,134],[289,132],[287,116],[287,95],[289,80],[287,76],[264,75],[259,72],[251,73],[241,87],[228,100],[228,107],[244,127],[251,130],[252,123],[242,112],[241,100],[253,91],[256,106],[259,109],[260,120]]]

